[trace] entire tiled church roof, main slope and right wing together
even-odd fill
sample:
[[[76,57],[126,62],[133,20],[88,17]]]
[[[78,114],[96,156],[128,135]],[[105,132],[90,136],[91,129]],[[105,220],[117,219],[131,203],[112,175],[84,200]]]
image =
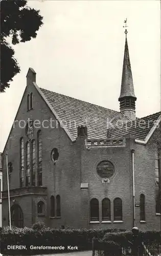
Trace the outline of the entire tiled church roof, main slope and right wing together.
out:
[[[40,88],[74,139],[77,127],[86,125],[88,139],[117,138],[131,134],[145,140],[160,112],[129,121],[122,113]],[[142,120],[142,121],[141,121]],[[114,127],[115,126],[115,127]]]

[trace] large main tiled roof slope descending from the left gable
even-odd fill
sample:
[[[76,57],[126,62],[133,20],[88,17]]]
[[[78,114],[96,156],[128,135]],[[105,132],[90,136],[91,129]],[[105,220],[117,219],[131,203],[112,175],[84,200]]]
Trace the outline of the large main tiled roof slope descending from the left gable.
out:
[[[107,138],[107,130],[116,125],[118,120],[129,121],[129,118],[120,112],[42,88],[40,90],[60,120],[66,122],[64,124],[74,139],[77,138],[77,127],[80,125],[87,126],[89,139],[98,139]]]

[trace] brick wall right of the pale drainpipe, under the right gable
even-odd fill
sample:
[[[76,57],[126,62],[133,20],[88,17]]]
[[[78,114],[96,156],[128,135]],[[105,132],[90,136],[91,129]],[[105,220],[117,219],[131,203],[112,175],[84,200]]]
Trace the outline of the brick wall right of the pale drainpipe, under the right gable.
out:
[[[160,230],[160,216],[155,214],[155,152],[159,138],[155,131],[145,145],[135,144],[135,202],[140,204],[140,194],[145,195],[146,222],[140,222],[140,208],[136,207],[136,226],[142,230]]]

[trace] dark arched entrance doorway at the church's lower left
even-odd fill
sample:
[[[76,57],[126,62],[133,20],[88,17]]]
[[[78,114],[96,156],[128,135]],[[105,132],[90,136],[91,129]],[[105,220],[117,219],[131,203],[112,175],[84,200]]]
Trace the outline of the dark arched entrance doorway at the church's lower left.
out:
[[[23,228],[23,212],[18,204],[14,204],[11,207],[11,225]]]

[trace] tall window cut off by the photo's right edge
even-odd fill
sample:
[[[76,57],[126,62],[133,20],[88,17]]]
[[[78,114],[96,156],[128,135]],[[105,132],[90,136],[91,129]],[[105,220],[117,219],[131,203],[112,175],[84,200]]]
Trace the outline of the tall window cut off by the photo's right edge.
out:
[[[155,154],[155,209],[160,214],[160,151]]]

